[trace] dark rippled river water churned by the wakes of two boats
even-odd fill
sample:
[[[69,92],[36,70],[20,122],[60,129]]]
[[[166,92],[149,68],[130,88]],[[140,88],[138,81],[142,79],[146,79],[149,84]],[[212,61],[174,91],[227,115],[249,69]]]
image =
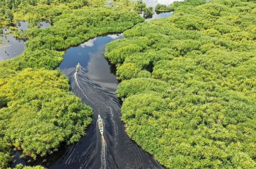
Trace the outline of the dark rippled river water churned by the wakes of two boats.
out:
[[[121,122],[121,104],[112,92],[104,90],[88,78],[83,67],[70,75],[71,91],[93,108],[93,123],[86,136],[75,146],[69,146],[59,161],[49,168],[81,169],[151,169],[163,168],[148,153],[131,141]],[[100,114],[104,137],[99,132]]]

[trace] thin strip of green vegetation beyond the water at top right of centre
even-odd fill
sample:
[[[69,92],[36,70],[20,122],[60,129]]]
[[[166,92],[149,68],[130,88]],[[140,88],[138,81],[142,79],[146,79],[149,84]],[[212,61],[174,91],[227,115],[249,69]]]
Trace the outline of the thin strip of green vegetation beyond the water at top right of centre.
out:
[[[191,5],[197,6],[206,3],[205,0],[184,0],[184,1],[174,1],[169,6],[157,4],[156,11],[174,11],[180,6]]]

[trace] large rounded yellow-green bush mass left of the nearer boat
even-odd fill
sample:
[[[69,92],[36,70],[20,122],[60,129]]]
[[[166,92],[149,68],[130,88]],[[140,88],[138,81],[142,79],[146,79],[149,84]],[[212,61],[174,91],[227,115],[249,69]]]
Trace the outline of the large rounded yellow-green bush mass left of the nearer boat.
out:
[[[92,109],[69,92],[59,71],[24,69],[0,78],[0,128],[3,140],[36,158],[57,150],[60,142],[79,141],[92,121]]]

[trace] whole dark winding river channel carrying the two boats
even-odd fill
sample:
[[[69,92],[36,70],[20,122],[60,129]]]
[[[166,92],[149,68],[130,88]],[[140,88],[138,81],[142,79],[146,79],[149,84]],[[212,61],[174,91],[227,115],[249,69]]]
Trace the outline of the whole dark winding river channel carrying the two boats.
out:
[[[145,1],[143,1],[145,2]],[[170,4],[173,0],[147,0],[147,6],[155,8],[157,3]],[[168,13],[154,13],[152,19],[170,16]],[[143,14],[142,14],[143,15]],[[70,79],[70,89],[82,99],[82,102],[93,108],[93,123],[86,130],[86,136],[73,145],[62,145],[59,151],[46,158],[25,165],[43,165],[50,169],[161,169],[153,156],[129,139],[121,121],[121,102],[115,95],[118,80],[115,66],[105,59],[106,44],[122,38],[122,33],[106,34],[79,46],[70,47],[59,65],[63,74]],[[75,71],[77,63],[81,67]],[[98,115],[103,120],[103,136],[99,132]],[[18,156],[18,152],[14,152]]]

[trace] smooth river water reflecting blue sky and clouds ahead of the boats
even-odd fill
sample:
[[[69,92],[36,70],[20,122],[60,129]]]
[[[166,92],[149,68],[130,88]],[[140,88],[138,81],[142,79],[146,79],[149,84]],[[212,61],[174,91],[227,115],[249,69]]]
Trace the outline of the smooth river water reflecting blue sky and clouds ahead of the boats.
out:
[[[90,39],[77,47],[71,47],[63,56],[63,61],[59,68],[62,73],[70,77],[74,67],[79,62],[88,78],[99,84],[103,89],[114,93],[117,89],[117,79],[109,71],[108,62],[102,53],[105,52],[107,43],[121,37],[123,37],[122,34],[100,36]]]

